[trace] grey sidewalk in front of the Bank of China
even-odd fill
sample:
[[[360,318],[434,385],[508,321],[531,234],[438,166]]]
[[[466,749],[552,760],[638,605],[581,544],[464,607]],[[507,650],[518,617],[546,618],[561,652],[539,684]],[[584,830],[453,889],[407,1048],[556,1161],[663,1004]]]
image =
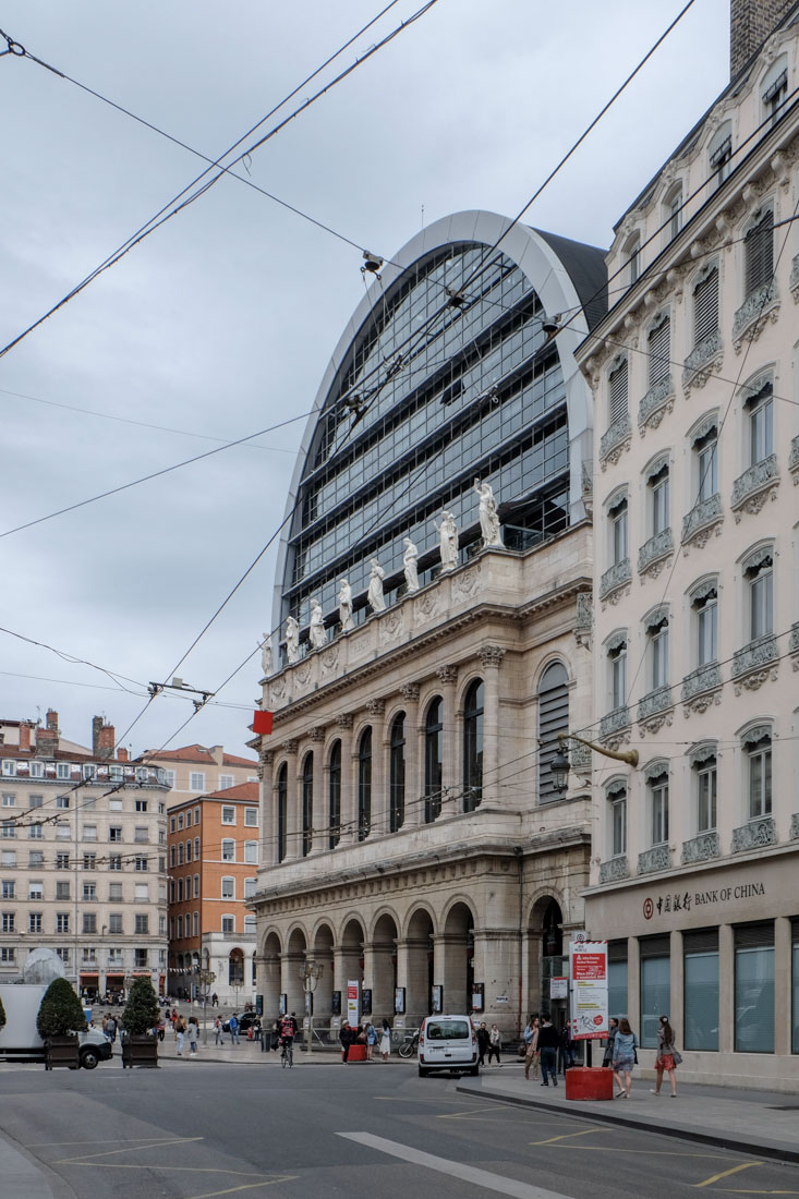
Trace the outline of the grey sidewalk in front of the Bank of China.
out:
[[[525,1081],[521,1070],[517,1073],[511,1067],[486,1071],[480,1079],[462,1078],[456,1090],[525,1108],[554,1109],[600,1123],[721,1145],[755,1157],[799,1162],[799,1093],[683,1084],[679,1072],[675,1099],[668,1097],[668,1080],[660,1096],[650,1095],[651,1085],[651,1080],[637,1078],[629,1099],[575,1102],[566,1099],[563,1078],[557,1089],[545,1090],[539,1081]]]

